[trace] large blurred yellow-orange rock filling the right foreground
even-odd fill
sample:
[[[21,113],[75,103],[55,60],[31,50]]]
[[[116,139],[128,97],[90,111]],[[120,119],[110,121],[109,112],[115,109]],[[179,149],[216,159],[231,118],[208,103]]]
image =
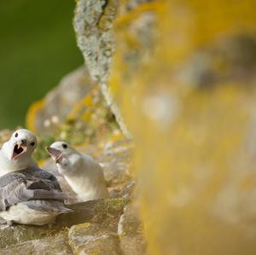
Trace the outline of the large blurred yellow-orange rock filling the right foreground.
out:
[[[256,253],[255,76],[200,89],[182,72],[216,42],[255,39],[255,4],[153,1],[116,19],[109,87],[137,142],[151,254]]]

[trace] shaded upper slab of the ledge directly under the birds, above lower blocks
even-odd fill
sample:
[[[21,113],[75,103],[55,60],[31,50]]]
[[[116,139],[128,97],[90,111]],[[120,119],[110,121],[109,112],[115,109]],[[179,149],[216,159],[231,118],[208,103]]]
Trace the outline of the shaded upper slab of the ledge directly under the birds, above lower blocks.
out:
[[[101,228],[108,226],[108,229],[116,231],[119,216],[126,203],[124,199],[108,199],[70,205],[73,212],[57,217],[52,226],[3,225],[0,228],[0,252],[1,248],[25,241],[41,240],[49,236],[55,239],[58,233],[79,223],[97,223]]]

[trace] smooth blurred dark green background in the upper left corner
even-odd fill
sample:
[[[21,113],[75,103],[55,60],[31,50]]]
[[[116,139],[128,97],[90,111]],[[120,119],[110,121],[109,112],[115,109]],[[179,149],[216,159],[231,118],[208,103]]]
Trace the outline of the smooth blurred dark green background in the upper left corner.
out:
[[[26,109],[83,63],[72,0],[0,1],[0,128],[24,125]]]

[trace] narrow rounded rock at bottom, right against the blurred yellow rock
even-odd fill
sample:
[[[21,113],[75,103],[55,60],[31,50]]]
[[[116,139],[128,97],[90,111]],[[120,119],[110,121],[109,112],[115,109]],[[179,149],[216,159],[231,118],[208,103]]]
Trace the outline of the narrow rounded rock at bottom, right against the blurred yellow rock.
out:
[[[134,206],[125,206],[124,213],[119,219],[118,234],[123,254],[146,254],[143,224],[139,219],[138,212]]]

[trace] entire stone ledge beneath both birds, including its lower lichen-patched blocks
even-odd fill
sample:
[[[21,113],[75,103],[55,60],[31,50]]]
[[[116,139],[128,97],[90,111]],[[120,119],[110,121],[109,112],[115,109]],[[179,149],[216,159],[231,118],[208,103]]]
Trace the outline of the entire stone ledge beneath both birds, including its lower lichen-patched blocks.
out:
[[[118,223],[125,204],[124,199],[92,200],[69,206],[73,212],[51,227],[2,226],[0,254],[120,254]]]

